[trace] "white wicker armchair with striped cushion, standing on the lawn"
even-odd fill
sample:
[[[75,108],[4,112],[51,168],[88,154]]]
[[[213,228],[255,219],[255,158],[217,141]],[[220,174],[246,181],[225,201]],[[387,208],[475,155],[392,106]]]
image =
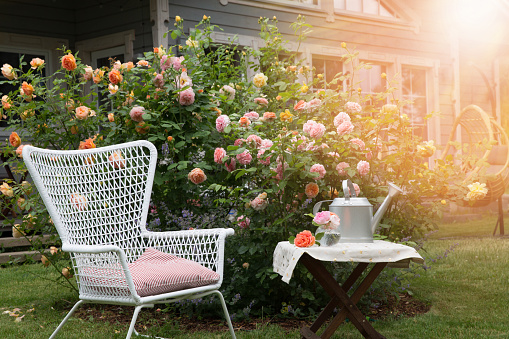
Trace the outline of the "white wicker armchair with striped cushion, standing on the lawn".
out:
[[[145,224],[157,150],[136,141],[90,150],[23,148],[23,159],[70,252],[82,303],[135,306],[217,294],[230,329],[224,298],[224,243],[232,229],[150,232]]]

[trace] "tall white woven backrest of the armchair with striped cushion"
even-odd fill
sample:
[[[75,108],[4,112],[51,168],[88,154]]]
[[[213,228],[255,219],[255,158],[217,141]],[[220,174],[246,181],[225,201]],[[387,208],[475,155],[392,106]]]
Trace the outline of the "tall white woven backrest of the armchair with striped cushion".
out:
[[[142,254],[154,145],[134,141],[77,151],[25,146],[23,159],[63,243],[116,245],[128,262]]]

